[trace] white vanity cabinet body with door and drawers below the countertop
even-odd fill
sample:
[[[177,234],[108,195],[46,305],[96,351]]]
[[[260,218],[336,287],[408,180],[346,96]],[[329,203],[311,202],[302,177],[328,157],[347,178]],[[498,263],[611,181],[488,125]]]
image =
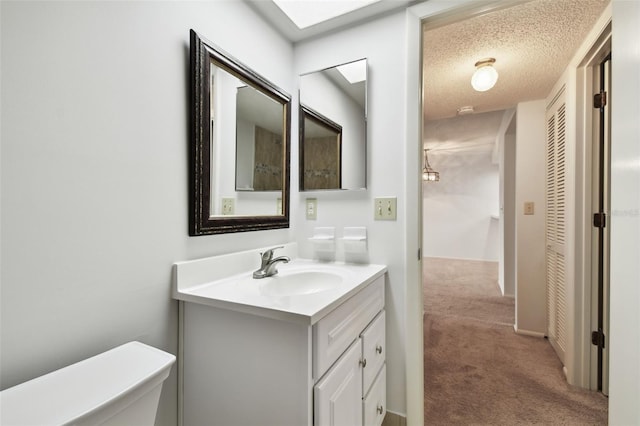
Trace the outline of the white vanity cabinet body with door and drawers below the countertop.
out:
[[[386,268],[368,268],[362,284],[313,315],[284,315],[295,302],[287,297],[259,312],[179,298],[179,424],[379,426]]]

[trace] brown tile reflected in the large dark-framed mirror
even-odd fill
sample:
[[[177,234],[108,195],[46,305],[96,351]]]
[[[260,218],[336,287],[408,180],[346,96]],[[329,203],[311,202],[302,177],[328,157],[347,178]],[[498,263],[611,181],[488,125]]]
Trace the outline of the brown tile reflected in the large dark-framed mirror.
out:
[[[282,135],[259,126],[256,126],[255,129],[253,189],[255,191],[281,191]]]

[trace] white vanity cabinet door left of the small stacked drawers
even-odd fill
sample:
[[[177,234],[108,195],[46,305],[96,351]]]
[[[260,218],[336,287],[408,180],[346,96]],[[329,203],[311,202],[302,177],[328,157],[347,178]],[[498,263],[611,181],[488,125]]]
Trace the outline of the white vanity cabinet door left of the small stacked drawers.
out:
[[[362,424],[362,367],[356,340],[313,388],[315,426]]]

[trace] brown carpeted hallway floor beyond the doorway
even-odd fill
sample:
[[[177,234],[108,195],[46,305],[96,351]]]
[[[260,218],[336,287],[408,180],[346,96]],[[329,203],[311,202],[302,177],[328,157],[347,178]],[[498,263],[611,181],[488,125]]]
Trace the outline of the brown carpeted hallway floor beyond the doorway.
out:
[[[424,259],[425,425],[606,425],[545,340],[515,334],[495,262]]]

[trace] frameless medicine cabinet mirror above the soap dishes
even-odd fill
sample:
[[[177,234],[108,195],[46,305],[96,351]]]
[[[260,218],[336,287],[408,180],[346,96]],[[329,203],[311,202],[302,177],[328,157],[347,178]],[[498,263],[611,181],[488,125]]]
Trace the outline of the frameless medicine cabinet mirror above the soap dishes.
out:
[[[366,188],[366,101],[366,59],[300,76],[301,191]]]

